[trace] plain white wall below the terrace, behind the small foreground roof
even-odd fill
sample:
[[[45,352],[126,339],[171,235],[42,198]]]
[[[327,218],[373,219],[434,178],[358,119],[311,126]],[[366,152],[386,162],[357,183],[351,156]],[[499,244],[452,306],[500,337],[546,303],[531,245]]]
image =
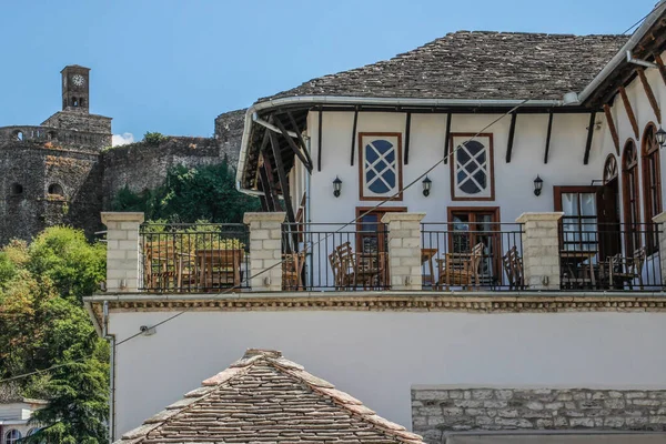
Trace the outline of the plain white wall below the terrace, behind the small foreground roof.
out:
[[[172,313],[113,313],[119,341]],[[412,385],[666,387],[658,313],[190,312],[117,356],[117,432],[225,369],[248,347],[281,350],[411,426]]]

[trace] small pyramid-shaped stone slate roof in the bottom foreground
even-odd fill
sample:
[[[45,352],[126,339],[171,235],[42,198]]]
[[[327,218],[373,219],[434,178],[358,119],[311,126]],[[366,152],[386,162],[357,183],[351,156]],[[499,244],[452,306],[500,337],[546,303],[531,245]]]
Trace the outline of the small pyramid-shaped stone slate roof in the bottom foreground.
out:
[[[243,359],[117,444],[258,443],[423,444],[280,352]]]

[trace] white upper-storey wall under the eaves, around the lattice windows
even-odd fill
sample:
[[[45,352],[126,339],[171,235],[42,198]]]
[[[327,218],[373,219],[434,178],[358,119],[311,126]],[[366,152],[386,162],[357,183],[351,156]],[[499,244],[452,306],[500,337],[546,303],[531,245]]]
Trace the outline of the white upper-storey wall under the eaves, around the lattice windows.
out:
[[[666,118],[664,81],[656,69],[647,69],[646,75],[662,108],[662,114]],[[657,120],[638,79],[635,79],[626,90],[638,121],[640,135],[643,135],[645,127],[649,122],[656,123]],[[615,99],[612,110],[619,134],[622,154],[626,140],[636,138],[619,97]],[[498,114],[454,114],[451,131],[453,133],[476,133],[497,117]],[[615,145],[604,113],[597,113],[596,122],[601,123],[601,128],[594,132],[589,162],[584,165],[589,114],[555,114],[548,163],[544,164],[547,121],[547,114],[518,115],[511,163],[505,161],[511,118],[505,117],[485,130],[493,134],[494,142],[494,201],[452,201],[451,167],[450,164],[440,164],[428,174],[433,181],[428,198],[423,196],[422,185],[417,183],[404,193],[403,201],[393,201],[385,206],[407,206],[407,211],[426,212],[425,222],[446,222],[448,206],[500,206],[502,222],[514,222],[525,211],[553,211],[553,186],[589,185],[593,180],[601,180],[606,157],[615,153]],[[320,172],[316,169],[319,112],[312,111],[309,114],[307,134],[311,138],[311,154],[315,165],[311,176],[310,220],[312,222],[349,222],[355,218],[356,206],[376,204],[376,202],[359,199],[357,138],[354,165],[350,164],[352,129],[353,112],[324,112],[322,171]],[[444,151],[445,129],[446,114],[412,114],[410,163],[403,167],[405,185],[441,159]],[[404,113],[360,112],[356,131],[402,132],[404,151]],[[639,148],[640,140],[636,140],[636,142]],[[666,164],[664,158],[666,155],[662,155],[663,165]],[[618,164],[622,164],[620,160],[618,157]],[[304,191],[302,178],[305,174],[305,170],[300,168],[300,162],[296,164],[299,168],[292,172],[292,175],[300,175],[301,179],[297,181],[294,205],[297,204]],[[544,180],[543,193],[538,198],[533,194],[533,181],[537,174]],[[333,198],[332,182],[335,176],[340,176],[343,181],[342,195],[337,199]],[[665,186],[664,182],[666,181],[662,182],[662,185]],[[642,176],[640,188],[643,188]],[[640,193],[643,194],[643,189]],[[663,195],[666,195],[666,192],[663,192]],[[643,214],[643,208],[640,213]]]

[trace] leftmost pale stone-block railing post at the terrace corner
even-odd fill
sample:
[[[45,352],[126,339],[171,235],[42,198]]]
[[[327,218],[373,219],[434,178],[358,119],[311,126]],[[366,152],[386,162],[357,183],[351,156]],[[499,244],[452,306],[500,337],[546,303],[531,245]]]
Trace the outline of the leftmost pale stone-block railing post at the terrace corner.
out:
[[[107,291],[137,292],[139,289],[139,225],[143,213],[103,212],[107,225]]]

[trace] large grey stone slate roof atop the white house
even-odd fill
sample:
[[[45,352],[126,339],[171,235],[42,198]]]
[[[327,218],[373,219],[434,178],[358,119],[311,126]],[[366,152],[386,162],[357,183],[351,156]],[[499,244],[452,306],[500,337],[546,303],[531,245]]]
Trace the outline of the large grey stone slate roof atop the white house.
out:
[[[391,60],[310,80],[270,99],[562,99],[582,91],[628,36],[458,31]]]

